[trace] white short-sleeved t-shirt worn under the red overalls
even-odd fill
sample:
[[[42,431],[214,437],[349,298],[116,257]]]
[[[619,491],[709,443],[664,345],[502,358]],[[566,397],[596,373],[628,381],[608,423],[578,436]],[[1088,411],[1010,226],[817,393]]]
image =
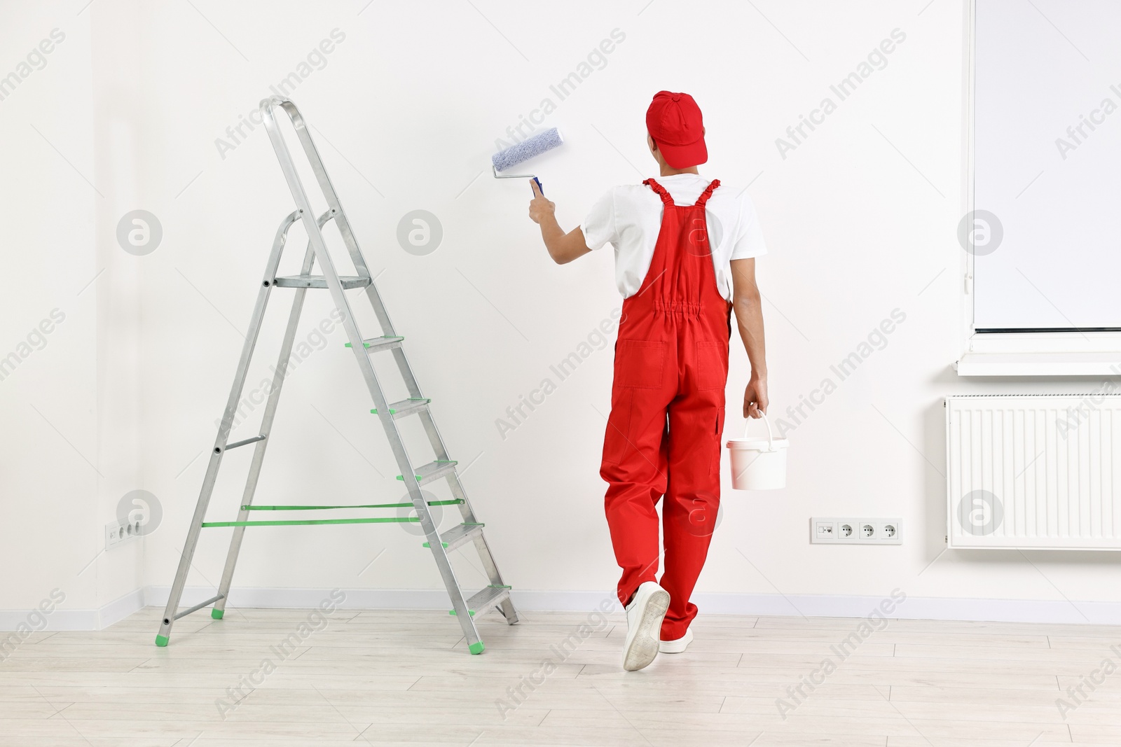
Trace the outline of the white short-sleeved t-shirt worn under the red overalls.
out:
[[[655,177],[675,205],[694,205],[712,179],[698,174]],[[654,259],[661,228],[661,197],[645,185],[612,187],[592,205],[582,228],[589,249],[611,243],[615,249],[615,284],[623,298],[638,292]],[[732,260],[767,253],[756,207],[747,189],[721,185],[705,204],[708,243],[716,288],[732,300]]]

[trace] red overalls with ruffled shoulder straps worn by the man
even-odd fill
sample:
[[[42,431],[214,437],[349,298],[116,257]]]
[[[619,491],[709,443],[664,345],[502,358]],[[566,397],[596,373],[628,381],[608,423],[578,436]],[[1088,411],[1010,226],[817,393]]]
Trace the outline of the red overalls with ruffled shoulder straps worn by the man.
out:
[[[661,197],[661,231],[642,287],[623,301],[600,476],[609,483],[604,504],[624,605],[639,583],[655,580],[655,506],[666,496],[660,583],[669,610],[661,638],[671,641],[696,617],[689,596],[720,506],[732,305],[716,288],[705,223],[705,203],[720,180],[685,207],[654,179],[642,184]]]

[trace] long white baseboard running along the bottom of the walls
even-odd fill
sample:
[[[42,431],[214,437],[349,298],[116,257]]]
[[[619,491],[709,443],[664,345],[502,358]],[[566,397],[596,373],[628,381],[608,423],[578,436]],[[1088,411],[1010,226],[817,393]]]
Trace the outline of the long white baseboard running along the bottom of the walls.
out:
[[[58,607],[47,617],[46,629],[100,631],[142,607],[163,607],[170,591],[149,586],[131,591],[100,609]],[[242,588],[230,595],[231,607],[311,608],[327,598],[330,589]],[[447,609],[443,589],[344,589],[340,606],[351,609]],[[213,596],[210,588],[187,588],[183,606]],[[515,604],[527,611],[591,611],[610,591],[513,591]],[[702,615],[772,615],[806,617],[865,617],[881,597],[855,595],[696,594]],[[200,610],[200,615],[205,615]],[[0,631],[28,623],[28,610],[0,610]],[[1035,599],[978,599],[907,597],[891,615],[898,619],[990,620],[999,623],[1091,623],[1121,625],[1121,603]]]

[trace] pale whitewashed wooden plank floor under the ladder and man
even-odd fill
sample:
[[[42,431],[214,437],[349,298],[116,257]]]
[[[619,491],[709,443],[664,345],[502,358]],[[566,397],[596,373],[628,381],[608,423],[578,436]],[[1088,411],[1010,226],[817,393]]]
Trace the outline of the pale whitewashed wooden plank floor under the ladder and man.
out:
[[[624,673],[619,615],[581,638],[586,614],[491,613],[472,656],[444,613],[336,610],[313,631],[308,610],[204,610],[157,648],[160,611],[28,638],[0,662],[0,746],[1121,745],[1121,672],[1056,706],[1121,664],[1121,627],[890,620],[842,659],[858,620],[703,615],[687,653]],[[823,684],[787,694],[825,659]]]

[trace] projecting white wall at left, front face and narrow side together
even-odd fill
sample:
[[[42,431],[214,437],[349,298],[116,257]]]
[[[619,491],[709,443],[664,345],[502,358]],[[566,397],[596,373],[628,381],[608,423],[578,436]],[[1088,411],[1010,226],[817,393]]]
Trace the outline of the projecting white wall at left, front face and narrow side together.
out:
[[[142,583],[142,545],[102,552],[103,525],[140,486],[137,258],[113,237],[138,199],[128,3],[4,3],[0,132],[8,282],[0,312],[0,605],[64,597],[99,610]],[[26,616],[8,615],[4,623]],[[96,615],[71,616],[99,624]]]

